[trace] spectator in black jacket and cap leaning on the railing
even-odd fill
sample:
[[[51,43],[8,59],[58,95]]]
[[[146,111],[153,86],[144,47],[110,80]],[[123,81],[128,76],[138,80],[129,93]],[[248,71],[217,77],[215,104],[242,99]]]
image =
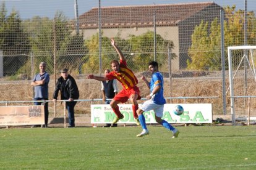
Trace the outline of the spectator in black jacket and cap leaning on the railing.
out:
[[[56,102],[58,93],[61,91],[61,100],[69,100],[66,102],[66,109],[69,114],[69,126],[75,127],[75,99],[79,99],[79,89],[75,79],[67,73],[67,68],[61,70],[61,77],[58,79],[55,90],[53,92],[53,101]]]

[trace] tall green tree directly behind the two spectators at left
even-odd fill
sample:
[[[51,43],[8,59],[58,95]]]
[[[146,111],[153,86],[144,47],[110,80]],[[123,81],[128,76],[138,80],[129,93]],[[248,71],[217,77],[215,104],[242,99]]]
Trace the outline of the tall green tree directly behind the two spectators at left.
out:
[[[55,27],[53,24],[55,24]],[[44,61],[48,65],[49,73],[53,73],[55,28],[57,70],[67,67],[78,71],[80,60],[85,55],[85,46],[82,35],[72,34],[73,29],[69,20],[62,12],[56,12],[54,20],[36,16],[31,20],[24,21],[23,25],[30,35],[32,55],[36,66]],[[38,67],[35,67],[35,69],[38,71]]]

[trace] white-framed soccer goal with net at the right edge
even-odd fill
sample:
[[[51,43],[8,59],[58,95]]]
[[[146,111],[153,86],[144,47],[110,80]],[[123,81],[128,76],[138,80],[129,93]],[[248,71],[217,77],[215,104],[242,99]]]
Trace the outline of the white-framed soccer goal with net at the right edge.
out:
[[[229,87],[233,125],[255,116],[256,46],[228,47]],[[227,91],[227,92],[228,92]],[[251,117],[252,120],[252,117]]]

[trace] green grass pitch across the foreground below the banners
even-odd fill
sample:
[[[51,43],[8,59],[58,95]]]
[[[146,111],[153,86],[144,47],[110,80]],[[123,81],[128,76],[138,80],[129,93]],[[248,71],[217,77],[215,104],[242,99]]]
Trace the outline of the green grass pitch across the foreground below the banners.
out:
[[[0,169],[256,169],[256,126],[0,129]]]

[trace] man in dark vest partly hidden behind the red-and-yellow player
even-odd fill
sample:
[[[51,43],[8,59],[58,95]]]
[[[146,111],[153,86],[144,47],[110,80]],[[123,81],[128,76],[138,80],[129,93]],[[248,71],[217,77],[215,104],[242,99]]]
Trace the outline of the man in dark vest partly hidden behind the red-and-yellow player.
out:
[[[110,70],[106,69],[104,71],[104,74],[108,75],[108,73],[110,73]],[[105,102],[105,104],[109,104],[110,100],[106,100],[106,99],[113,99],[118,91],[116,79],[101,81],[101,91],[102,91],[102,95],[103,95],[102,100]],[[110,127],[110,126],[111,126],[111,124],[107,123],[105,127]],[[116,123],[113,124],[113,127],[116,127],[116,126],[117,126]]]

